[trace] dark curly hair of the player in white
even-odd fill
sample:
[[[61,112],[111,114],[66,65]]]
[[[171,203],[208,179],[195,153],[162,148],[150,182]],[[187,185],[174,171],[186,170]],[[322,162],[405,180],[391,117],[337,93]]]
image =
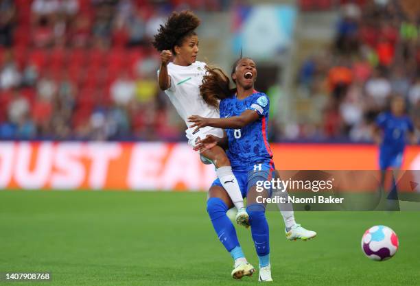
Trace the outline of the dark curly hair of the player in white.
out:
[[[182,45],[187,36],[195,35],[194,30],[198,25],[200,19],[193,12],[172,12],[166,23],[161,25],[158,33],[154,35],[152,44],[158,51],[170,49],[175,53],[174,47]]]

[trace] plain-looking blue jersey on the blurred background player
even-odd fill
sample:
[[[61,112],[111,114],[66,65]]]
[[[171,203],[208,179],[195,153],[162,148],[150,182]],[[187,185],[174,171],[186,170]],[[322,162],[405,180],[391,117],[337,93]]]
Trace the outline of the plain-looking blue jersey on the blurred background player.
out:
[[[395,117],[391,112],[384,112],[377,117],[376,124],[384,132],[384,140],[381,143],[382,150],[404,151],[408,132],[414,132],[410,117],[406,115]]]

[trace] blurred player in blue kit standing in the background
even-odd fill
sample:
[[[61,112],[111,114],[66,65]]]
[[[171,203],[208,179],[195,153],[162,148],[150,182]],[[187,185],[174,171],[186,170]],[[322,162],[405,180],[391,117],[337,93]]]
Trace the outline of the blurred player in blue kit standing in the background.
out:
[[[415,130],[412,121],[406,115],[403,97],[395,96],[390,100],[390,110],[378,115],[374,130],[374,139],[380,145],[379,165],[381,170],[380,189],[384,189],[386,170],[393,169],[397,178],[408,141],[415,144]],[[391,191],[396,191],[395,179]],[[396,193],[393,199],[397,198]]]

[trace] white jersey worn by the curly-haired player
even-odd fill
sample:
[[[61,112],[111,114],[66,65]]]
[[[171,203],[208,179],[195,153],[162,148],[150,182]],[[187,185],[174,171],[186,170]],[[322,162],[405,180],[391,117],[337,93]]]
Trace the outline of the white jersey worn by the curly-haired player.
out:
[[[198,115],[206,118],[219,118],[219,110],[209,106],[200,95],[200,85],[206,73],[205,62],[194,62],[189,66],[179,66],[170,62],[167,64],[167,73],[171,77],[170,88],[165,91],[172,104],[178,111],[178,115],[187,124],[187,138],[192,139],[192,132],[195,128],[189,128],[192,123],[188,122],[188,117]],[[201,131],[212,130],[214,128],[201,128]],[[218,132],[220,134],[220,132]]]

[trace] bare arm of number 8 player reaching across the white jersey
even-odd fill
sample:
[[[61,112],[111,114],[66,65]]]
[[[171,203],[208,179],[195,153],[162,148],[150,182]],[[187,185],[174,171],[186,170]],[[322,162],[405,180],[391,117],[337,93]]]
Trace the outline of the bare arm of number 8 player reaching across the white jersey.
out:
[[[188,117],[188,122],[194,123],[189,126],[196,127],[194,132],[197,132],[198,129],[205,126],[211,126],[215,128],[224,128],[224,129],[240,129],[244,126],[247,126],[249,123],[252,123],[259,119],[259,115],[255,110],[245,110],[239,116],[227,117],[227,118],[205,118],[198,115],[193,115]]]

